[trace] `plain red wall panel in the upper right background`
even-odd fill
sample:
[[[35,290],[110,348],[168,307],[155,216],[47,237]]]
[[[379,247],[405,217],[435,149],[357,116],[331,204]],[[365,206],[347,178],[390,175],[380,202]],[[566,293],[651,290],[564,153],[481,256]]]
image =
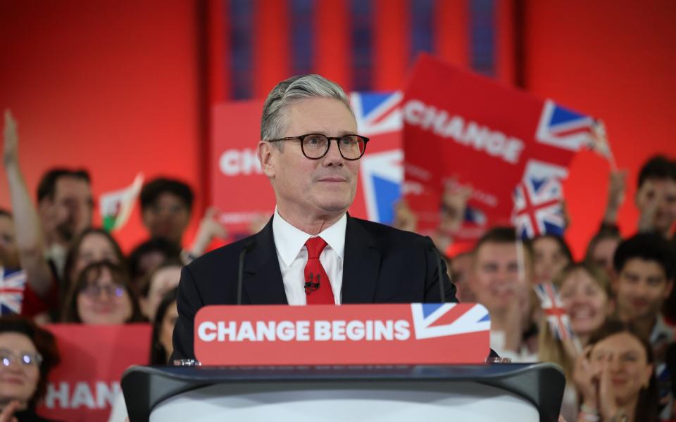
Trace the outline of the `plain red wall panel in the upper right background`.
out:
[[[526,0],[524,21],[526,88],[606,122],[618,167],[630,171],[620,226],[631,234],[639,168],[655,153],[676,158],[676,3]],[[565,186],[577,252],[601,221],[607,186],[608,165],[578,155]]]

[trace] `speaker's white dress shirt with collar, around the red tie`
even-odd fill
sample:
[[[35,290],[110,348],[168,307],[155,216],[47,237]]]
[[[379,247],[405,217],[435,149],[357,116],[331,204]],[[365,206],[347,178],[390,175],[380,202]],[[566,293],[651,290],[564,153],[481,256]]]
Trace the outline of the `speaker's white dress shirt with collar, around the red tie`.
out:
[[[344,214],[328,229],[317,236],[327,243],[319,255],[326,275],[331,282],[331,290],[336,305],[340,305],[340,291],[343,285],[343,257],[345,251],[345,229],[347,215]],[[296,229],[285,221],[275,207],[273,218],[273,237],[280,260],[284,292],[287,293],[289,305],[307,305],[305,294],[305,264],[308,262],[308,249],[305,247],[311,234]]]

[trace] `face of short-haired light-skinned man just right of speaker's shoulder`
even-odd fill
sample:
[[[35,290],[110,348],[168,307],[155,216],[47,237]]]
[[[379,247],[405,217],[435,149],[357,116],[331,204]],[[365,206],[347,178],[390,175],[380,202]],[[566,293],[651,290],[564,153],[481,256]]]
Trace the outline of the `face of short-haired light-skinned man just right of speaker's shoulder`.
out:
[[[514,243],[487,242],[475,252],[472,290],[489,312],[505,311],[527,293],[529,263],[520,265],[517,248]]]

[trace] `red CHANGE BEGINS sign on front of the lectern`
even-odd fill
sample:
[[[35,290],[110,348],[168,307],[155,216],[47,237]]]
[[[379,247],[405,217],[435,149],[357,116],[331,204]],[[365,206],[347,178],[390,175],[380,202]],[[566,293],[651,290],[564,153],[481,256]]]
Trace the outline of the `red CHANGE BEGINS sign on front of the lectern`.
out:
[[[482,305],[208,306],[195,316],[203,365],[479,364]]]

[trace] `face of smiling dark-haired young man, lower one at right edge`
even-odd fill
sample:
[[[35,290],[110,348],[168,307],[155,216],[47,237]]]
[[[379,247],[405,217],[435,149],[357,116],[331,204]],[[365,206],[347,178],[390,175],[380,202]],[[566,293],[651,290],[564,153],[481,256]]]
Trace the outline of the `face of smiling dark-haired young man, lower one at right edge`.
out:
[[[620,316],[629,321],[655,318],[672,286],[657,262],[641,258],[627,260],[615,280]]]

